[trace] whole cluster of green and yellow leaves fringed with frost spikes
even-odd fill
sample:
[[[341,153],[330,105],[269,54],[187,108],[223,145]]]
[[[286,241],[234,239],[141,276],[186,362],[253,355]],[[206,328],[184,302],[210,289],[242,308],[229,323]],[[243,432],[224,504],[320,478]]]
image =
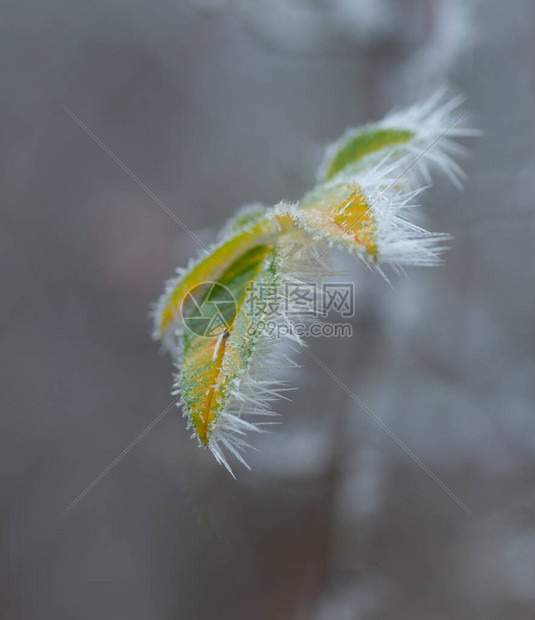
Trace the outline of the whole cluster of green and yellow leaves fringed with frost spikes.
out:
[[[327,148],[318,184],[302,200],[242,208],[219,241],[167,283],[154,312],[155,337],[175,359],[175,389],[193,435],[231,473],[225,452],[245,464],[244,435],[262,428],[255,416],[273,415],[280,395],[263,370],[285,357],[256,329],[266,316],[248,303],[253,287],[281,291],[285,282],[319,281],[323,256],[335,245],[382,275],[385,264],[400,270],[439,262],[448,236],[410,215],[434,169],[460,184],[454,158],[464,150],[455,138],[475,133],[458,122],[461,102],[439,92],[347,131]],[[289,314],[277,320],[291,322]]]

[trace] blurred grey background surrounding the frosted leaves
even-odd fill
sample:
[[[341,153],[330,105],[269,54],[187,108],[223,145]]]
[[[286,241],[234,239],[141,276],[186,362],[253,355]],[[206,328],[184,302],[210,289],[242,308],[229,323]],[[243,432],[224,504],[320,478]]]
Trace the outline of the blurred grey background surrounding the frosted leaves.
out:
[[[1,617],[535,617],[535,3],[125,0],[1,8]],[[297,199],[323,145],[449,83],[485,136],[438,180],[445,265],[359,262],[351,339],[234,481],[171,402],[150,303],[205,242]]]

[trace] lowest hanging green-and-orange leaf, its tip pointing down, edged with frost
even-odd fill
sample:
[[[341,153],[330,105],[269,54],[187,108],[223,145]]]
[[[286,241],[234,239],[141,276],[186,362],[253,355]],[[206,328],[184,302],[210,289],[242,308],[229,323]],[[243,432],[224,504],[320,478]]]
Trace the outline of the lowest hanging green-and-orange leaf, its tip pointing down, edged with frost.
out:
[[[256,428],[230,411],[260,337],[258,322],[264,318],[249,303],[251,290],[253,285],[273,288],[278,275],[274,247],[254,246],[199,297],[185,319],[176,388],[195,436],[225,465],[222,449],[241,460],[245,444],[240,435]]]

